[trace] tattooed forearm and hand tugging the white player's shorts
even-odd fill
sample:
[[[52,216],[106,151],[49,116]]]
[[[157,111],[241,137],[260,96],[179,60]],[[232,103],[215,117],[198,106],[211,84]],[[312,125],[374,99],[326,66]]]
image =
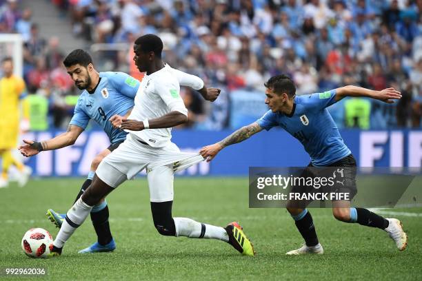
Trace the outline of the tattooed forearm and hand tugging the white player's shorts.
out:
[[[227,138],[224,138],[223,141],[214,143],[214,145],[202,147],[199,154],[201,154],[203,158],[207,158],[207,162],[210,162],[210,160],[214,159],[224,147],[245,141],[245,139],[250,138],[250,136],[261,131],[262,127],[257,122],[254,122],[248,126],[241,127]]]

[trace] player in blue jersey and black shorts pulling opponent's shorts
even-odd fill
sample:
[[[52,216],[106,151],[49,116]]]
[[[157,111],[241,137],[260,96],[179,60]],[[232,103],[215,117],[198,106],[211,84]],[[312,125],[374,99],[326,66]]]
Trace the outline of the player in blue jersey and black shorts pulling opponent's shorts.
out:
[[[272,127],[283,127],[302,143],[305,151],[310,155],[311,162],[308,167],[345,167],[345,174],[341,176],[344,177],[343,180],[347,180],[345,183],[350,183],[346,185],[350,193],[356,194],[356,161],[350,149],[343,143],[339,129],[326,107],[346,96],[366,96],[385,103],[393,103],[392,100],[401,98],[400,92],[393,88],[373,91],[349,85],[323,93],[296,96],[294,82],[285,75],[273,76],[264,85],[267,88],[265,103],[270,110],[256,122],[238,129],[223,141],[203,147],[201,155],[210,161],[228,145],[245,141],[263,129],[268,131]],[[343,222],[357,222],[359,225],[383,229],[394,240],[400,251],[405,249],[408,237],[399,220],[383,218],[368,209],[351,207],[350,200],[332,202],[334,218]],[[310,211],[305,206],[298,205],[288,205],[287,209],[305,240],[303,247],[289,251],[287,254],[323,253]]]

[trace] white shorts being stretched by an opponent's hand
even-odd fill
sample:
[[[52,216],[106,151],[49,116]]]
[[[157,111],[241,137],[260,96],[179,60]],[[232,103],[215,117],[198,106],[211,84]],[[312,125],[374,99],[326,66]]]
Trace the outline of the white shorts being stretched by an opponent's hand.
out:
[[[146,168],[150,201],[165,202],[173,200],[174,171],[203,160],[198,153],[180,152],[174,143],[151,147],[128,134],[125,141],[101,161],[96,174],[104,183],[116,188]]]

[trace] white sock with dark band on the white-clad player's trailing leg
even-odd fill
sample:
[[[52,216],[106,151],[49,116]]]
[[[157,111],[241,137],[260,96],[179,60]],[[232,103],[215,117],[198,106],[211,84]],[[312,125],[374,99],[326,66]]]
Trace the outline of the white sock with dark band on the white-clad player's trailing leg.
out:
[[[228,242],[228,234],[223,227],[206,225],[190,218],[173,218],[173,220],[174,226],[176,227],[176,236],[218,239]]]

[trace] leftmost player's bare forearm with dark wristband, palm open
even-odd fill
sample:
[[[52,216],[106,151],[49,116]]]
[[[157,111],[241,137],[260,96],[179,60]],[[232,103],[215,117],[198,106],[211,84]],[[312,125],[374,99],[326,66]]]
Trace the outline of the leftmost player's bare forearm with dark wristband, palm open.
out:
[[[54,150],[73,145],[82,132],[83,129],[81,127],[69,125],[68,130],[65,133],[59,134],[59,136],[50,138],[50,140],[47,141],[37,142],[23,140],[25,145],[19,145],[18,149],[23,156],[34,156],[43,150]]]

